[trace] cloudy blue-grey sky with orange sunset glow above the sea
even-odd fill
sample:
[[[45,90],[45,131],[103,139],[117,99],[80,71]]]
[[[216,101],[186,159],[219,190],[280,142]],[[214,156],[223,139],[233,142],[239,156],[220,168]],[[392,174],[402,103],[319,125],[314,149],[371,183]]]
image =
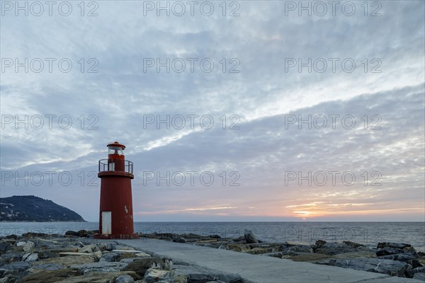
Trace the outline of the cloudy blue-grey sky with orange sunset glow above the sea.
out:
[[[424,221],[424,1],[43,3],[1,1],[1,197],[97,221],[117,140],[135,221]]]

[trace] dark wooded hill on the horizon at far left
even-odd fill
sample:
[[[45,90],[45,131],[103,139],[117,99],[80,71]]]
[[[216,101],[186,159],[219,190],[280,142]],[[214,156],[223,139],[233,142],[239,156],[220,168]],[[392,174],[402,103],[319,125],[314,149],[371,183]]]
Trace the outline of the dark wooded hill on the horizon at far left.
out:
[[[33,195],[0,198],[0,221],[76,221],[84,219],[67,207]]]

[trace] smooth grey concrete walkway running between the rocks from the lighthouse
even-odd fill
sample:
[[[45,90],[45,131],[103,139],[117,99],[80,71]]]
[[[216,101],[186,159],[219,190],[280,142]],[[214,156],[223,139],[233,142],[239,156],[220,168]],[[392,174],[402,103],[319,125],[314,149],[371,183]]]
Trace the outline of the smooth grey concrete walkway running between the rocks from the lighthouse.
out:
[[[414,283],[415,279],[390,277],[380,273],[350,270],[308,262],[293,262],[263,255],[250,255],[232,250],[219,250],[186,243],[173,243],[150,238],[120,240],[137,250],[187,262],[217,272],[239,275],[254,283]],[[423,282],[422,282],[423,283]]]

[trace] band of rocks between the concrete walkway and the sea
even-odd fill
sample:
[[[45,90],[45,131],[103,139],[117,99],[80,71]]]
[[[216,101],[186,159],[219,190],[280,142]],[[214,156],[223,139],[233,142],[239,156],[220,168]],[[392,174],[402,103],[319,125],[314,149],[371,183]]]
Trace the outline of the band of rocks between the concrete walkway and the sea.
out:
[[[376,248],[368,248],[351,241],[328,243],[319,240],[314,244],[297,242],[263,243],[257,240],[251,231],[245,231],[244,236],[239,238],[172,233],[149,233],[140,234],[140,236],[234,250],[252,255],[267,255],[319,265],[377,272],[419,279],[425,282],[425,253],[416,252],[414,247],[407,243],[382,242],[378,243]]]

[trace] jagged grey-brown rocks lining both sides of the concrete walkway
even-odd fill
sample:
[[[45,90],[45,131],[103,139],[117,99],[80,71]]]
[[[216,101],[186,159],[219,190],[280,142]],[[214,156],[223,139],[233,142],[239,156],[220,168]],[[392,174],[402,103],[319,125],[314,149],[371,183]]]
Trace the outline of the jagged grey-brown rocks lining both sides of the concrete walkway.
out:
[[[0,238],[0,283],[243,283],[241,277],[159,258],[113,240],[93,238],[97,231],[68,231],[65,235],[24,233]],[[188,243],[240,253],[378,272],[425,282],[425,253],[407,243],[263,243],[251,231],[239,238],[192,233],[149,233],[140,237]]]

